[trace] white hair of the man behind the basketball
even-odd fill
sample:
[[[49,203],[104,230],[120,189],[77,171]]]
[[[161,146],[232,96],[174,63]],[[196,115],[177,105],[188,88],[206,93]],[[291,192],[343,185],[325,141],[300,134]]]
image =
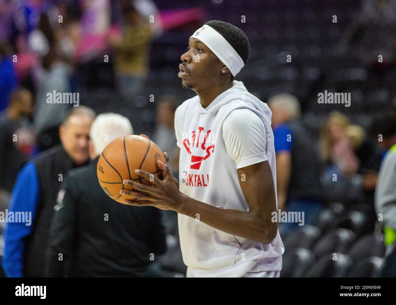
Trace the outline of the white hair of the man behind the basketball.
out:
[[[98,115],[89,130],[89,136],[97,155],[100,155],[111,141],[127,134],[133,134],[131,122],[118,113]]]

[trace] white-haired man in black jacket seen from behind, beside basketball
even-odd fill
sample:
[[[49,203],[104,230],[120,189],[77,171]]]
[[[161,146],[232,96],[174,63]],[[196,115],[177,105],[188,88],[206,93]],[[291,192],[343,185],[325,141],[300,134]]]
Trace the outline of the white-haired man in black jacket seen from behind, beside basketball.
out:
[[[166,251],[160,211],[109,198],[99,185],[99,155],[112,140],[132,134],[115,113],[98,115],[89,132],[92,162],[65,177],[50,230],[46,276],[163,276],[152,255]]]

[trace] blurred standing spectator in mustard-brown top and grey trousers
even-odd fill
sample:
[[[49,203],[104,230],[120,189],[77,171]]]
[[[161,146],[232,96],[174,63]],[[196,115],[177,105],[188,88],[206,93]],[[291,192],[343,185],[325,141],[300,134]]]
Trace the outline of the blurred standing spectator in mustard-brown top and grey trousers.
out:
[[[109,42],[116,52],[114,69],[120,93],[129,101],[142,92],[148,74],[151,29],[148,19],[131,5],[124,8],[123,15],[122,35],[109,36]]]

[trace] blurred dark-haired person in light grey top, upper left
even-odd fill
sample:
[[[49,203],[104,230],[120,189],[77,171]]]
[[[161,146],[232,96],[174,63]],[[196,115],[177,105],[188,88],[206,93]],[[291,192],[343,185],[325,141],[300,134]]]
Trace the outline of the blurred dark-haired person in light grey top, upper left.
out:
[[[42,69],[38,71],[36,111],[34,127],[38,134],[38,144],[45,150],[59,143],[58,129],[71,104],[47,102],[48,94],[70,92],[69,67],[51,50],[42,59]],[[55,99],[55,97],[54,97]]]

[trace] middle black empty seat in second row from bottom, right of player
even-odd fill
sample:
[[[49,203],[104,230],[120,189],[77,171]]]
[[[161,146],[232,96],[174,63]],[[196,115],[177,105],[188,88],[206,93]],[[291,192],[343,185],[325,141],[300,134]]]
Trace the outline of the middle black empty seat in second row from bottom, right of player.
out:
[[[320,238],[312,251],[316,257],[322,257],[326,253],[346,253],[354,240],[354,232],[344,228],[336,228]]]

